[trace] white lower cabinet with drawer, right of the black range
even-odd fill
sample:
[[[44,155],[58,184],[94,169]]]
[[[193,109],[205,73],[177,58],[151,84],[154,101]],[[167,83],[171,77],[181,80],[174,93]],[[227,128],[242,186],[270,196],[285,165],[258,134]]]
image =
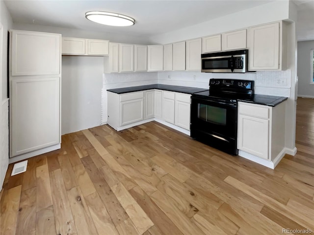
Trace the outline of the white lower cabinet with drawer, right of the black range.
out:
[[[279,162],[285,148],[285,113],[285,102],[275,107],[238,102],[237,148]]]

